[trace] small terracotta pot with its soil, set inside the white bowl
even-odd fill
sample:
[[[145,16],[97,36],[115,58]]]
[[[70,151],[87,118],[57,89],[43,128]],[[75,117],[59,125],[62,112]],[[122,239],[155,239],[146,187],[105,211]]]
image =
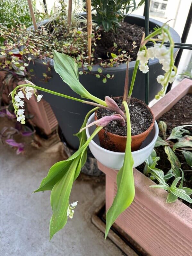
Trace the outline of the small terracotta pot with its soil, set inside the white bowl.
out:
[[[121,107],[123,97],[114,97],[115,102]],[[131,119],[132,151],[137,150],[144,139],[149,135],[154,126],[154,115],[151,109],[142,101],[131,97],[129,104]],[[114,112],[106,109],[99,109],[95,112],[95,119],[100,119]],[[127,141],[127,123],[121,126],[119,121],[111,121],[99,133],[100,145],[115,152],[125,152]]]

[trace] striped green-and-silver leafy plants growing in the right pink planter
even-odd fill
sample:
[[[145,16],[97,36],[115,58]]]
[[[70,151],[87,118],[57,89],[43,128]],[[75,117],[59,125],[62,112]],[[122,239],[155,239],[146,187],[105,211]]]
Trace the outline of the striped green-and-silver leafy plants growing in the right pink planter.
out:
[[[166,138],[167,125],[164,121],[159,122],[159,128],[162,133],[162,137],[158,137],[155,147],[164,146],[165,153],[167,158],[170,161],[171,169],[164,174],[164,172],[156,167],[160,157],[157,156],[155,150],[145,161],[144,174],[148,175],[150,179],[156,180],[159,182],[158,185],[152,185],[152,188],[161,188],[169,192],[166,203],[175,202],[178,198],[183,199],[189,203],[192,203],[190,195],[192,194],[192,189],[188,187],[183,187],[184,181],[184,171],[181,169],[181,163],[177,155],[175,154],[176,150],[179,150],[185,157],[186,162],[192,167],[192,136],[183,134],[188,134],[189,131],[184,129],[185,127],[192,127],[192,125],[182,125],[172,129],[172,132],[168,138]],[[174,143],[172,140],[178,140]],[[172,184],[167,184],[172,177]],[[179,186],[177,187],[179,183]]]

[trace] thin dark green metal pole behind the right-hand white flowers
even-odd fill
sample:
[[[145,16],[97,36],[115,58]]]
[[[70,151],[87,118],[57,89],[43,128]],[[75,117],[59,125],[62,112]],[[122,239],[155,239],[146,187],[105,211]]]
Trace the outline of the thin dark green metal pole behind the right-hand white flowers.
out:
[[[149,35],[149,0],[145,0],[145,36]],[[145,103],[149,104],[149,71],[145,75]]]

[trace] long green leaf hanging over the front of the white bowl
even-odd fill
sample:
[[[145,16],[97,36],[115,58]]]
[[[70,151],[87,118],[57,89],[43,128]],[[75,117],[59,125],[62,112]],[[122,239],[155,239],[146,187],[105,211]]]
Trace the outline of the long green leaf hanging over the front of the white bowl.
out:
[[[123,102],[127,116],[127,143],[123,166],[117,174],[117,194],[106,214],[105,239],[117,217],[133,202],[135,197],[133,157],[131,153],[131,122],[127,102]]]

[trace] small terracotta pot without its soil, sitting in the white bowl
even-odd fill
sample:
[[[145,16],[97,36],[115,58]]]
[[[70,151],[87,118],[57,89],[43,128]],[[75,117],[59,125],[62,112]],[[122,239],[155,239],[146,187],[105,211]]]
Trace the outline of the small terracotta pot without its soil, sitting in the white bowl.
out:
[[[114,97],[114,99],[118,99],[118,98],[120,98],[120,97]],[[138,135],[131,136],[131,150],[132,151],[139,149],[139,147],[141,146],[143,141],[146,139],[146,137],[149,135],[149,133],[153,129],[154,122],[155,122],[155,117],[154,117],[152,110],[143,101],[138,100],[138,99],[136,99],[136,100],[138,102],[142,102],[142,104],[147,109],[150,110],[151,114],[153,115],[153,121],[152,121],[152,124],[150,125],[150,127],[146,131],[144,131]],[[97,120],[97,111],[95,111],[95,120]],[[106,132],[104,128],[102,130],[100,130],[100,132],[98,133],[98,136],[99,136],[101,147],[108,149],[110,151],[125,152],[127,136],[120,136],[120,135],[116,135],[116,134],[113,134],[110,132]]]

